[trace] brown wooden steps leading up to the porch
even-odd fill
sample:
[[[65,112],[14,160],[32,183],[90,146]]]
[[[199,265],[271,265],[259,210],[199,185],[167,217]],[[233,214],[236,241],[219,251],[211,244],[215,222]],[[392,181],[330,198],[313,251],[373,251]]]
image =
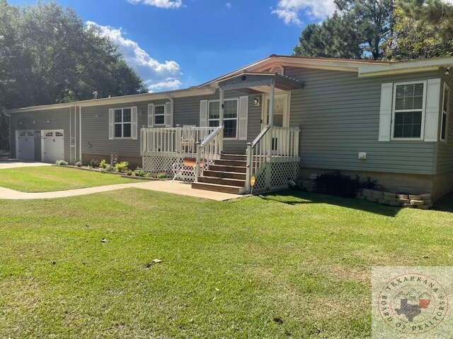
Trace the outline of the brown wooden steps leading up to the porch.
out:
[[[244,194],[246,189],[246,155],[222,154],[215,160],[209,170],[203,171],[198,182],[192,184],[193,189]]]

